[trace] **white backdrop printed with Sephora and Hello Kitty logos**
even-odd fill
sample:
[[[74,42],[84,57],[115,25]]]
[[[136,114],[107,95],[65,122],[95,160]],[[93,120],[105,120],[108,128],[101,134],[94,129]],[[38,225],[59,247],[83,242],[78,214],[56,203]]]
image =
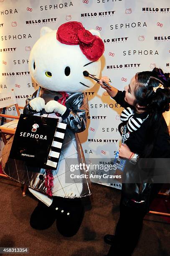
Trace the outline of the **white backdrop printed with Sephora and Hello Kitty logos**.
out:
[[[28,60],[41,27],[57,29],[71,20],[100,32],[105,44],[101,75],[108,76],[119,90],[137,72],[154,67],[170,71],[169,0],[0,0],[1,92],[14,89],[18,105],[25,105],[26,98],[38,89],[31,80]],[[107,164],[119,147],[122,108],[99,84],[86,94],[88,126],[79,134],[84,155],[89,164],[91,159]],[[116,180],[107,185],[121,188]]]

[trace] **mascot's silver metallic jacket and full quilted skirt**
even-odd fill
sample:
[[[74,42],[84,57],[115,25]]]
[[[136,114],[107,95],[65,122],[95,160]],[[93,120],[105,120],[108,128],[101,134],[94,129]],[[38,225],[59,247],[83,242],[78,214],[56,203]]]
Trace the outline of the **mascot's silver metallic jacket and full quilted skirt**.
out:
[[[77,133],[86,129],[86,117],[89,113],[89,105],[86,95],[82,92],[68,93],[68,95],[65,103],[67,114],[61,116],[61,118],[63,118],[61,119],[62,123],[66,123],[67,128],[58,161],[58,167],[56,170],[52,170],[52,194],[53,196],[69,198],[84,197],[91,195],[89,176],[84,169],[79,168],[76,170],[75,174],[86,175],[81,175],[83,178],[79,180],[70,179],[70,174],[74,173],[70,171],[70,159],[72,159],[72,164],[85,164],[84,153]],[[50,100],[54,100],[56,96],[57,98],[60,98],[61,94],[40,87],[33,94],[32,99],[35,97],[42,97],[47,103]],[[27,99],[27,104],[24,109],[25,114],[33,114],[33,111],[30,110],[28,105],[30,100],[31,98]],[[9,154],[12,142],[13,137],[10,138],[3,148],[2,165],[4,173],[11,179],[28,185],[31,190],[36,190],[36,192],[41,192],[46,195],[46,170],[43,168],[27,166],[25,161],[10,159]]]

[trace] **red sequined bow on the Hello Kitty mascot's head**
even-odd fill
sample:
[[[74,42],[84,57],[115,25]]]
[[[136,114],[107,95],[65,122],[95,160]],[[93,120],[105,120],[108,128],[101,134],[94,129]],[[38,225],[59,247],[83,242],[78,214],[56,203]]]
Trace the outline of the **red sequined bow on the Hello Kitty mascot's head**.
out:
[[[82,53],[91,61],[98,60],[104,53],[104,43],[101,38],[92,35],[78,21],[66,22],[59,26],[57,40],[62,44],[79,44]]]

